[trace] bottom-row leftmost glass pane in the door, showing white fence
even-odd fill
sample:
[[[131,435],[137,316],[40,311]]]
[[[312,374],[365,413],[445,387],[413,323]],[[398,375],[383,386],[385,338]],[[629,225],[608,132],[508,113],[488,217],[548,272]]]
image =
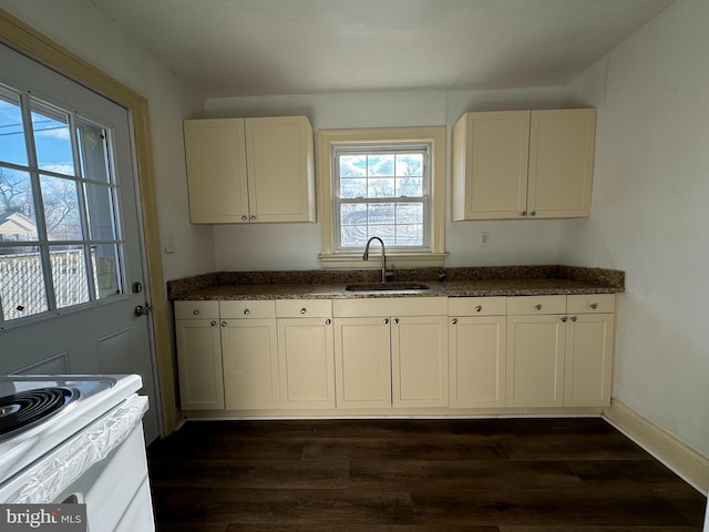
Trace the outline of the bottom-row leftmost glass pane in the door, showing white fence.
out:
[[[0,300],[6,321],[49,310],[37,247],[0,247]]]

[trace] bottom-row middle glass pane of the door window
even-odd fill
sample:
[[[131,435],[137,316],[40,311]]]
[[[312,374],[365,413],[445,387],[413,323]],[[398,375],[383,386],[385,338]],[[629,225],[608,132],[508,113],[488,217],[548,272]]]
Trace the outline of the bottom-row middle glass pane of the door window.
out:
[[[52,285],[56,308],[89,301],[89,278],[83,246],[51,247]]]

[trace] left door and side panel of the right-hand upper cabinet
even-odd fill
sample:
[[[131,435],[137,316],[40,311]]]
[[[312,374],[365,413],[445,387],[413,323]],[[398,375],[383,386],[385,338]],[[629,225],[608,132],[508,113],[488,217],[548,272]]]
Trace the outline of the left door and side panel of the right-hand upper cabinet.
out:
[[[452,216],[526,214],[530,111],[465,113],[453,129]]]

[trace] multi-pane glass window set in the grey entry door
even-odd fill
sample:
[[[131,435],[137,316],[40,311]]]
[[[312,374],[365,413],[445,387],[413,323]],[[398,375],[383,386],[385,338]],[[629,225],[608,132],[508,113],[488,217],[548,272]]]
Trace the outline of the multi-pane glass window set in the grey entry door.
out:
[[[0,85],[0,326],[122,293],[111,131]]]

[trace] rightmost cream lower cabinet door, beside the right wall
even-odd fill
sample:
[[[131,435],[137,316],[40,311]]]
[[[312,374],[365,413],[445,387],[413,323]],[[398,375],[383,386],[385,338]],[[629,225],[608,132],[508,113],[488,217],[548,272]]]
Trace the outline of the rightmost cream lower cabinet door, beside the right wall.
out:
[[[580,314],[567,321],[564,406],[610,405],[613,314]]]

